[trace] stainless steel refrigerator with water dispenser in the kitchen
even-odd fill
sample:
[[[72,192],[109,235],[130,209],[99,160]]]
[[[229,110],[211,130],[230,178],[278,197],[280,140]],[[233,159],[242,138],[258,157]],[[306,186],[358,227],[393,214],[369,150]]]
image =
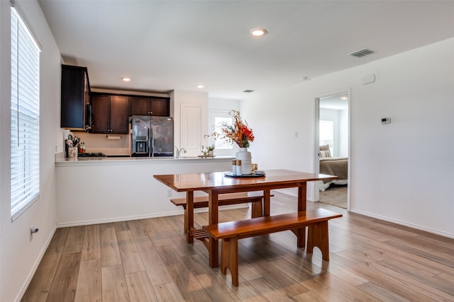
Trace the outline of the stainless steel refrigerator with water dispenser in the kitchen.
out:
[[[173,156],[172,117],[133,115],[132,156]]]

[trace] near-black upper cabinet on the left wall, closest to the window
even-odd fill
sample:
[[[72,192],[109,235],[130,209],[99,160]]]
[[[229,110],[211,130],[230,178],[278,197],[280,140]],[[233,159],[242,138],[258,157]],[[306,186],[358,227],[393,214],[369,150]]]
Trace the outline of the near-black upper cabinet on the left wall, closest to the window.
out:
[[[89,129],[89,93],[87,67],[62,65],[60,127],[81,131]]]

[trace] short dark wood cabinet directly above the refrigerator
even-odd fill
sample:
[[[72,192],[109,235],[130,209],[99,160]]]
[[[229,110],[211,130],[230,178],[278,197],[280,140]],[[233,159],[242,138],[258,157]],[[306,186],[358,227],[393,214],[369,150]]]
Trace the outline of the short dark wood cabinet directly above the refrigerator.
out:
[[[170,99],[131,96],[131,115],[170,116]]]

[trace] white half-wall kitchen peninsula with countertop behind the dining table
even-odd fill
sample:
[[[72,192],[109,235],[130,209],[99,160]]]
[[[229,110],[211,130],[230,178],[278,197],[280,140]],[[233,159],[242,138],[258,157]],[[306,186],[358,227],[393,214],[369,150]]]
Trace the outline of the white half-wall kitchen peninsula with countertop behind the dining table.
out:
[[[58,227],[183,214],[170,202],[184,197],[155,174],[231,170],[231,156],[215,158],[57,158]]]

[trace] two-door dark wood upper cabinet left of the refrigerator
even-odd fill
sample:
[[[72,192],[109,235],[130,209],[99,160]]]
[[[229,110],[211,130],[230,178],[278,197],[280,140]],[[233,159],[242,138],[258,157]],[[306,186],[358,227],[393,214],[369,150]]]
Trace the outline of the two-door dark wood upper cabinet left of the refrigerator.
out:
[[[128,134],[128,116],[128,96],[92,94],[91,133]]]

